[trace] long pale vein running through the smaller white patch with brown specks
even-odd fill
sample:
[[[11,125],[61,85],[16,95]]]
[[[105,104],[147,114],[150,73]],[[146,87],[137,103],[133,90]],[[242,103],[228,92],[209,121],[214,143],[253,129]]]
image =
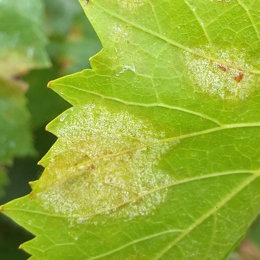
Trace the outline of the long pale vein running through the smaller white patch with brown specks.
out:
[[[89,3],[89,4],[90,4],[90,3]],[[210,57],[210,56],[208,56],[208,55],[204,55],[204,54],[202,54],[202,53],[200,53],[200,52],[198,52],[198,51],[195,51],[195,50],[193,50],[193,49],[191,49],[191,48],[188,48],[188,47],[186,47],[186,46],[184,46],[184,45],[182,45],[182,44],[180,44],[180,43],[178,43],[178,42],[176,42],[176,41],[174,41],[174,40],[171,40],[171,39],[167,38],[166,36],[160,35],[159,33],[154,32],[154,31],[152,31],[152,30],[150,30],[150,29],[148,29],[148,28],[145,28],[145,27],[143,27],[143,26],[140,26],[139,24],[135,24],[135,23],[133,23],[132,21],[127,20],[127,19],[125,19],[125,18],[119,16],[118,14],[116,14],[116,13],[114,13],[114,12],[111,12],[109,9],[105,9],[103,6],[101,6],[100,4],[96,3],[95,1],[91,1],[91,4],[95,5],[95,6],[96,6],[97,8],[99,8],[101,11],[103,11],[104,13],[106,13],[106,14],[108,14],[108,15],[111,15],[112,17],[115,17],[115,18],[117,18],[117,19],[119,19],[119,20],[121,20],[121,21],[123,21],[123,22],[125,22],[125,23],[128,23],[128,24],[130,24],[131,26],[133,26],[133,27],[135,27],[135,28],[138,28],[138,29],[140,29],[140,30],[143,31],[143,32],[146,32],[146,33],[148,33],[148,34],[151,34],[151,35],[153,35],[153,36],[159,38],[160,40],[164,40],[165,42],[167,42],[167,43],[169,43],[169,44],[171,44],[171,45],[174,45],[174,46],[176,46],[176,47],[179,47],[180,49],[182,49],[182,50],[184,50],[184,51],[187,51],[187,52],[190,52],[190,53],[192,53],[192,54],[194,54],[194,55],[196,55],[196,56],[199,56],[199,57],[204,58],[204,59],[206,59],[206,60],[211,60],[211,61],[217,62],[217,63],[219,63],[219,64],[221,64],[221,65],[225,65],[225,66],[227,66],[227,67],[234,68],[234,69],[236,69],[236,70],[240,70],[240,71],[244,71],[244,72],[248,72],[248,73],[260,74],[260,70],[257,70],[257,69],[249,69],[249,68],[237,66],[237,65],[232,64],[232,63],[230,63],[230,62],[227,62],[227,61],[225,61],[225,60],[220,60],[220,59],[218,59],[218,58],[213,58],[213,57]],[[82,5],[82,8],[85,9],[86,7]]]

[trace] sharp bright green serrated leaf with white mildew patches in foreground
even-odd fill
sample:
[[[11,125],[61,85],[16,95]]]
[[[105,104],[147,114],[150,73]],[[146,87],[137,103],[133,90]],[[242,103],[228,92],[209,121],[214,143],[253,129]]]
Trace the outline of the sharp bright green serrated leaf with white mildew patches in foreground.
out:
[[[221,260],[260,211],[258,0],[80,0],[102,51],[30,196],[31,260]]]

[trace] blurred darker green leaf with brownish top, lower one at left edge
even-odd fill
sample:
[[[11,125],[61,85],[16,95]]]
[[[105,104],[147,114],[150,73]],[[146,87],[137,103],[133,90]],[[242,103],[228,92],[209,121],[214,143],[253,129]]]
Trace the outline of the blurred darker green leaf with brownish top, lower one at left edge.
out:
[[[30,114],[20,82],[0,78],[0,162],[11,163],[14,156],[32,155]]]

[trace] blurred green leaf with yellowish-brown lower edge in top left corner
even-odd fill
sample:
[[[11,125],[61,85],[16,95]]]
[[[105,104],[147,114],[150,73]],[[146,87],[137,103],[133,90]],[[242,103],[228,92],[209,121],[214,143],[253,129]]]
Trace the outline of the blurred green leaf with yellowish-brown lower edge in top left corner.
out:
[[[41,0],[0,1],[0,74],[9,78],[50,65]]]

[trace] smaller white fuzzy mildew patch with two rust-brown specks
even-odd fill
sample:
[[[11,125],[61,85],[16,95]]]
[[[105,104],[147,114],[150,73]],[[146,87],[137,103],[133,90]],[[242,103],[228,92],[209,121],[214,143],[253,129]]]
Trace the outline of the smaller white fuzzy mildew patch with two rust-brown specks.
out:
[[[197,52],[210,56],[210,46],[195,49]],[[260,83],[259,75],[241,71],[207,60],[190,52],[184,51],[185,62],[188,66],[188,75],[194,83],[194,89],[198,92],[205,92],[212,96],[219,96],[221,99],[245,100],[258,89]],[[246,53],[236,48],[230,50],[219,50],[217,59],[224,60],[242,68],[253,69],[247,62]]]

